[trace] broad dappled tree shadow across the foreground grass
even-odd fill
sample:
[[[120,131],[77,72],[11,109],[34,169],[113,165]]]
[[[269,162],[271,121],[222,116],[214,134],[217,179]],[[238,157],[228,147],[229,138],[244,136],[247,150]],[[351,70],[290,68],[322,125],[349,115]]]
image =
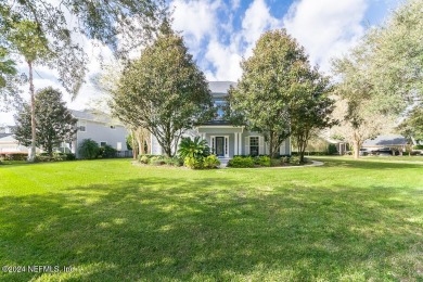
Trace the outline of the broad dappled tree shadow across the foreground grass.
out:
[[[247,182],[146,177],[0,197],[2,265],[74,267],[0,280],[419,279],[418,198]]]

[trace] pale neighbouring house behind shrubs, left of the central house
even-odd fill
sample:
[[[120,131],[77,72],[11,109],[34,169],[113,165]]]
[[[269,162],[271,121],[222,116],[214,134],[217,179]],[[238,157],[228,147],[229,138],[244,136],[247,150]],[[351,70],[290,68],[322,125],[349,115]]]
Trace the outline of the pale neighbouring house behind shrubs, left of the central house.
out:
[[[78,148],[85,139],[92,139],[100,146],[111,145],[118,152],[130,154],[126,146],[126,138],[129,134],[124,125],[112,119],[105,114],[90,111],[70,110],[73,116],[78,119],[77,132],[72,144],[62,144],[61,151],[72,152],[79,157]]]

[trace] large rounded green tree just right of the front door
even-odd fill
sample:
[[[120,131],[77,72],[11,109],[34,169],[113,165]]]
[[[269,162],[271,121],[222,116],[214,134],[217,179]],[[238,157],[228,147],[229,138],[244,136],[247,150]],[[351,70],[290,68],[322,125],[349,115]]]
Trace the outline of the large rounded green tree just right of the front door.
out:
[[[285,29],[265,33],[241,67],[242,78],[229,92],[230,118],[261,132],[272,157],[293,130],[305,136],[317,120],[325,120],[331,105],[324,98],[329,80],[311,70],[304,48]]]

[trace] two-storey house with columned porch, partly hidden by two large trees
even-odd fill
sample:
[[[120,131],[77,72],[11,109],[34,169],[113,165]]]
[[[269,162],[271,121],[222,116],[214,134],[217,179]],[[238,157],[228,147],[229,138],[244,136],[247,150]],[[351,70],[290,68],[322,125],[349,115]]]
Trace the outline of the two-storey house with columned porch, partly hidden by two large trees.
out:
[[[246,130],[242,126],[233,126],[223,117],[223,106],[231,81],[208,82],[213,95],[213,102],[217,107],[215,119],[202,124],[190,130],[187,136],[201,137],[206,140],[211,152],[219,158],[232,158],[235,155],[267,155],[269,148],[262,134]],[[163,154],[163,149],[156,138],[152,136],[152,154]],[[279,150],[280,155],[291,155],[291,142],[286,139]]]

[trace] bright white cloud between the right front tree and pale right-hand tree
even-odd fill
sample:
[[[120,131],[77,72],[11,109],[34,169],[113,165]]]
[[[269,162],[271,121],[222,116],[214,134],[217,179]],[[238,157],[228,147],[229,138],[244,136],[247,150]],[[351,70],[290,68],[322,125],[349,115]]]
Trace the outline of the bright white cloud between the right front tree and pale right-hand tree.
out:
[[[284,16],[287,31],[306,48],[311,63],[330,70],[330,60],[346,52],[363,35],[366,0],[299,0]]]

